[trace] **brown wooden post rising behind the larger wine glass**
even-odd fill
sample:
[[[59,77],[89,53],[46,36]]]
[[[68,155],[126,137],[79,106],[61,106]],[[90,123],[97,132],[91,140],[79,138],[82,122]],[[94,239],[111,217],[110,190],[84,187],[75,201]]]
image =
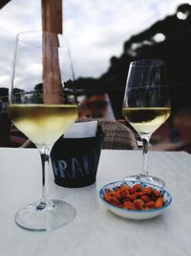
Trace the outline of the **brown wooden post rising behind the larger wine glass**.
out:
[[[42,0],[42,30],[62,34],[62,0]],[[43,99],[45,104],[62,104],[57,35],[43,35]],[[52,47],[50,47],[52,46]],[[53,46],[55,47],[53,49]]]

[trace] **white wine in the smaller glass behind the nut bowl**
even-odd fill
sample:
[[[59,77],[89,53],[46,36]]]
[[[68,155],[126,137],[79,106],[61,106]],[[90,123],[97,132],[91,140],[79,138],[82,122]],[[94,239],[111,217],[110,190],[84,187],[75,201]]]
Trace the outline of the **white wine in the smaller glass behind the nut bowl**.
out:
[[[152,134],[170,116],[170,107],[124,107],[122,114],[138,134]]]

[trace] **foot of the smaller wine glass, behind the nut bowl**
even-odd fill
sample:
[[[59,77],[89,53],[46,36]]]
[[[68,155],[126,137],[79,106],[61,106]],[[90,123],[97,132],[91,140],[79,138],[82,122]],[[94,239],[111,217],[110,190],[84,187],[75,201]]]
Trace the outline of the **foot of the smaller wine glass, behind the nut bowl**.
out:
[[[148,182],[151,183],[153,185],[159,186],[159,187],[164,187],[165,186],[165,182],[160,179],[157,176],[150,176],[150,175],[130,175],[130,176],[126,176],[124,177],[123,181],[139,181],[139,182]]]

